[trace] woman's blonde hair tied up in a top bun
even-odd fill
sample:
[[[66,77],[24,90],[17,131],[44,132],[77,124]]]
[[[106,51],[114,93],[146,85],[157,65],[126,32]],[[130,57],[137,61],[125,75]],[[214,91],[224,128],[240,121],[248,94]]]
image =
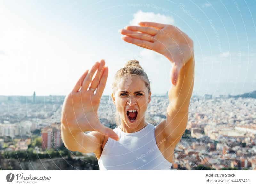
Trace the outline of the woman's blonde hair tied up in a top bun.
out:
[[[118,70],[116,72],[115,78],[114,78],[115,80],[112,84],[113,93],[115,94],[116,85],[121,78],[124,78],[124,77],[127,78],[128,83],[129,83],[129,77],[131,77],[132,75],[136,75],[136,76],[140,77],[145,82],[145,86],[148,89],[148,93],[151,92],[150,81],[148,80],[148,75],[146,74],[144,69],[140,66],[139,61],[130,60],[130,61],[126,62],[126,64],[124,65],[123,68],[121,68],[120,70]],[[117,126],[121,125],[121,117],[117,110],[115,113],[115,121],[116,121]]]

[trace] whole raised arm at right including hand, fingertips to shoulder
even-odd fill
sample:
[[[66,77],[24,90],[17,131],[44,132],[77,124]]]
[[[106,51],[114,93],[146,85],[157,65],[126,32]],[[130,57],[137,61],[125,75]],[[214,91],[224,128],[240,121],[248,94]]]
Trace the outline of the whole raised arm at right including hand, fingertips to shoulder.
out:
[[[120,30],[123,40],[163,54],[172,63],[169,105],[166,120],[157,125],[157,131],[176,146],[185,132],[188,108],[194,86],[193,41],[173,25],[140,22],[140,26],[127,26]]]

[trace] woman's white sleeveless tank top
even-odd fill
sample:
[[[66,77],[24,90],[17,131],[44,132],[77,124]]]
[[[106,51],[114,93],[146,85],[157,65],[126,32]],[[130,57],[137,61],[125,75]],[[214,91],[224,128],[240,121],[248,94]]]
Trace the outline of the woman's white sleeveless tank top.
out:
[[[100,170],[170,170],[172,163],[159,150],[155,129],[150,123],[134,133],[119,126],[113,129],[119,141],[108,138],[98,162]]]

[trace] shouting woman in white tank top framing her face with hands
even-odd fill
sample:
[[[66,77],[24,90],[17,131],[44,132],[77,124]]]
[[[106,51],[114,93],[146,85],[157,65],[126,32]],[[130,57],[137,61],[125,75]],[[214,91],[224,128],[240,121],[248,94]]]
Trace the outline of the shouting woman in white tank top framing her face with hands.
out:
[[[104,60],[85,71],[63,104],[65,146],[71,151],[95,153],[100,170],[170,170],[174,148],[186,129],[194,86],[193,41],[172,25],[139,24],[119,32],[126,35],[124,41],[163,54],[172,63],[166,120],[156,127],[145,122],[150,83],[135,60],[116,73],[113,83],[112,101],[120,114],[117,121],[121,121],[117,128],[103,126],[97,115],[108,76]]]

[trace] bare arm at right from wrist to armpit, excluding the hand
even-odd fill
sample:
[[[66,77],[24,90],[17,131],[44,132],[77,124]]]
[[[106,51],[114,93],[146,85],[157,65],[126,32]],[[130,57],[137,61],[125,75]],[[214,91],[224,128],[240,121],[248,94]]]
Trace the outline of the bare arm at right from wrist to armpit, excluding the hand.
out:
[[[165,136],[170,145],[176,146],[184,134],[188,122],[188,108],[194,87],[194,55],[181,68],[176,86],[168,92],[169,105],[165,124]]]

